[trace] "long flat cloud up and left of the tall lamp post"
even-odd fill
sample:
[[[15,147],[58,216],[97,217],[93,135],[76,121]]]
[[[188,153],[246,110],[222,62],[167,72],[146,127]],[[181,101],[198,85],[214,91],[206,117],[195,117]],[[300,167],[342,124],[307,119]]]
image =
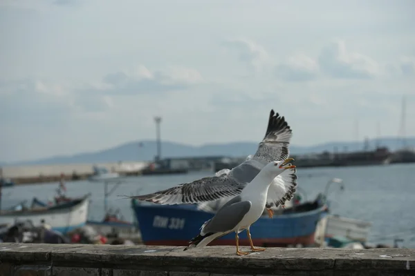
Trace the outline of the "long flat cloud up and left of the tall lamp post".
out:
[[[102,83],[95,88],[110,94],[136,95],[183,90],[201,82],[203,77],[192,68],[172,66],[165,70],[151,71],[145,66],[138,66],[135,70],[119,71],[104,76]]]

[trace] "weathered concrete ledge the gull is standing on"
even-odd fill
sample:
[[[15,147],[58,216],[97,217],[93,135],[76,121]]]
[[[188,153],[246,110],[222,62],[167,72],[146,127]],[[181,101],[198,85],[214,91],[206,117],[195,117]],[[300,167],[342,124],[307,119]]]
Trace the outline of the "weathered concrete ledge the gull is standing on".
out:
[[[3,275],[415,275],[415,249],[0,244]]]

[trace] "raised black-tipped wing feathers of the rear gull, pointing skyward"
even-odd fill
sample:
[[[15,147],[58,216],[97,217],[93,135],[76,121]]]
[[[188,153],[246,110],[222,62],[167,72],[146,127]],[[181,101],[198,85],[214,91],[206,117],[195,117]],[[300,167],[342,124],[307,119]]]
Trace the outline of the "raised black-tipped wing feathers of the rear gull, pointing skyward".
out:
[[[285,118],[279,117],[278,113],[271,110],[265,137],[259,143],[258,150],[252,159],[257,159],[261,163],[287,159],[290,153],[288,145],[291,136],[292,130]]]

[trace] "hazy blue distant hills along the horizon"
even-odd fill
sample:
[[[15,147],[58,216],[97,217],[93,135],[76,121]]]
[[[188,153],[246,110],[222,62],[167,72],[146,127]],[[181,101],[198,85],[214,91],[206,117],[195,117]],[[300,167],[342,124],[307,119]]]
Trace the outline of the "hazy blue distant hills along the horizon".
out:
[[[415,146],[415,137],[407,138],[408,146]],[[369,148],[373,149],[376,140],[369,140]],[[401,139],[396,137],[385,137],[380,139],[380,146],[387,146],[389,150],[400,148]],[[195,157],[223,155],[230,157],[241,157],[253,154],[257,150],[257,143],[234,142],[228,144],[206,144],[203,146],[189,146],[169,141],[163,141],[161,146],[162,158],[166,157]],[[339,151],[347,147],[347,151],[361,150],[363,142],[330,142],[315,146],[291,146],[291,154],[306,154],[312,152],[333,152],[335,148]],[[72,156],[55,156],[46,159],[32,161],[20,161],[7,165],[29,165],[29,164],[71,164],[71,163],[102,163],[116,161],[150,161],[156,154],[156,141],[136,141],[100,150],[97,152],[84,152]],[[3,166],[6,164],[3,163]]]

